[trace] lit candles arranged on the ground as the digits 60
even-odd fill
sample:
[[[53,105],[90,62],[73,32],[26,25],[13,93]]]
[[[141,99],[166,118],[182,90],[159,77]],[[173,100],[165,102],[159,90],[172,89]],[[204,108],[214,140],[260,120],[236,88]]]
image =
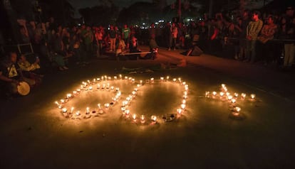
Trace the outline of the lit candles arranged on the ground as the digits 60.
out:
[[[97,84],[97,89],[108,89],[108,91],[113,91],[115,90],[116,91],[116,95],[115,97],[112,98],[112,102],[109,103],[106,103],[103,105],[103,107],[98,104],[98,111],[91,111],[93,114],[103,114],[104,112],[108,111],[109,107],[111,104],[115,104],[115,102],[118,102],[118,100],[120,99],[121,97],[121,92],[120,92],[120,89],[118,87],[113,87],[113,86],[110,86],[110,83],[103,83],[103,84],[100,84],[100,82],[105,82],[105,81],[109,81],[109,80],[128,80],[129,82],[131,83],[135,83],[135,79],[132,78],[132,77],[127,77],[125,76],[123,78],[122,75],[119,75],[118,77],[117,76],[114,76],[113,78],[112,77],[108,77],[108,76],[102,76],[100,78],[95,78],[93,79],[92,81],[90,80],[87,80],[86,82],[82,82],[81,84],[81,87],[76,89],[75,91],[73,91],[72,93],[70,94],[66,94],[66,98],[65,99],[61,99],[60,102],[56,101],[56,105],[57,107],[61,110],[61,112],[63,113],[64,116],[72,116],[73,119],[76,119],[78,118],[78,116],[81,116],[81,111],[76,111],[74,112],[74,107],[71,107],[70,110],[68,110],[66,107],[63,107],[70,99],[73,99],[73,97],[76,97],[78,94],[80,94],[82,91],[91,91],[93,90],[93,85]],[[155,82],[155,78],[152,77],[150,78],[150,80],[145,80],[146,83],[154,83]],[[181,78],[173,78],[172,80],[170,80],[170,77],[167,76],[167,77],[160,77],[160,82],[174,82],[175,84],[179,83],[181,85],[183,85],[184,87],[184,92],[183,92],[183,95],[182,95],[182,102],[180,104],[180,107],[176,109],[176,113],[181,115],[183,112],[185,112],[185,108],[186,108],[186,99],[187,99],[187,94],[188,94],[188,84],[186,84],[186,82],[182,82],[182,79]],[[130,110],[128,109],[128,107],[130,106],[130,103],[133,99],[135,99],[136,95],[137,95],[137,92],[138,92],[138,88],[142,87],[143,86],[143,80],[140,80],[138,82],[138,84],[136,84],[136,88],[133,89],[133,92],[131,92],[131,94],[129,94],[128,97],[126,97],[126,99],[122,102],[122,106],[121,106],[121,111],[123,112],[123,116],[125,116],[126,118],[129,118],[130,115]],[[86,108],[86,112],[85,112],[85,118],[89,118],[90,117],[90,108],[87,107]],[[132,115],[132,119],[133,121],[138,121],[140,119],[140,122],[142,124],[145,123],[146,121],[146,117],[145,115],[141,115],[141,116],[138,116],[137,114],[133,114]],[[157,116],[155,115],[152,115],[150,117],[151,121],[153,122],[156,122],[157,121]]]

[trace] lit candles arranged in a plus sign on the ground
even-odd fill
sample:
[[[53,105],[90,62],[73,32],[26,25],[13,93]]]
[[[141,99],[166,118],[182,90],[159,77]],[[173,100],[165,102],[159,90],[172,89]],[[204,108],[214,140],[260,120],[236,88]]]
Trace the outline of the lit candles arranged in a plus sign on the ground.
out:
[[[205,92],[205,97],[206,98],[212,97],[213,99],[217,99],[219,97],[219,99],[221,99],[221,100],[228,100],[228,102],[231,103],[230,106],[233,107],[232,115],[240,116],[241,108],[236,106],[237,100],[238,99],[242,99],[242,100],[246,99],[247,94],[242,93],[242,94],[240,94],[240,97],[239,97],[239,93],[234,92],[234,94],[232,95],[228,91],[226,84],[221,84],[219,93],[217,93],[217,92],[210,93],[207,91],[207,92]],[[256,94],[250,94],[250,99],[251,99],[251,101],[254,101],[256,99]]]

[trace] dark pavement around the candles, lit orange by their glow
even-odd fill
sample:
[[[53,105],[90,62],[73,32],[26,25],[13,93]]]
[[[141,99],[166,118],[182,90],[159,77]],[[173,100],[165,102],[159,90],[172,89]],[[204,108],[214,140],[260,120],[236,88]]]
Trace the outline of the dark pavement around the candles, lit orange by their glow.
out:
[[[53,104],[83,80],[118,75],[122,67],[178,62],[179,53],[161,50],[157,60],[94,60],[46,75],[29,96],[2,102],[0,168],[295,167],[293,72],[202,55],[187,58],[187,67],[132,75],[182,77],[190,85],[187,112],[167,124],[136,125],[121,117],[118,105],[101,118],[65,119]],[[227,102],[200,97],[221,83],[232,92],[257,94],[255,102],[239,102],[243,120],[229,118]],[[167,88],[176,94],[144,87],[131,108],[138,114],[148,109],[160,116],[162,107],[172,111],[169,105],[179,102],[177,87]],[[130,85],[120,89],[129,92]]]

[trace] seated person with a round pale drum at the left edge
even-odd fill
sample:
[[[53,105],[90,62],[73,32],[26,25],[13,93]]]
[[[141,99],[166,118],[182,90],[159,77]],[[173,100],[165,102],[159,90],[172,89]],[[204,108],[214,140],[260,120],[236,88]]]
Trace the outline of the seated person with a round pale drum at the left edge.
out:
[[[19,93],[26,95],[29,94],[30,86],[33,86],[35,81],[23,76],[16,60],[16,53],[9,53],[7,62],[1,64],[0,80],[4,81],[5,86],[11,94]]]

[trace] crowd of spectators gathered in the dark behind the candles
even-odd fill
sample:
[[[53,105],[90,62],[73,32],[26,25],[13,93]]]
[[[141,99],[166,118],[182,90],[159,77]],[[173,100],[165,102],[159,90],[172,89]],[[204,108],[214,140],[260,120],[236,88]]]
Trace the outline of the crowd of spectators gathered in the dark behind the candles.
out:
[[[54,18],[46,23],[18,20],[21,43],[31,43],[35,60],[26,60],[25,53],[11,52],[1,61],[0,80],[16,93],[17,84],[25,81],[38,85],[43,67],[54,63],[58,70],[68,70],[68,60],[77,65],[88,64],[90,58],[103,53],[139,53],[138,43],[150,45],[155,51],[159,44],[167,50],[190,49],[198,46],[206,53],[218,55],[227,50],[232,58],[243,62],[279,62],[284,67],[294,65],[295,17],[289,7],[281,15],[261,16],[259,11],[244,11],[241,16],[227,18],[217,13],[214,18],[200,21],[167,22],[165,26],[152,23],[148,29],[123,25],[71,26],[58,25]],[[19,57],[17,57],[19,55]],[[132,59],[132,57],[130,56]]]

